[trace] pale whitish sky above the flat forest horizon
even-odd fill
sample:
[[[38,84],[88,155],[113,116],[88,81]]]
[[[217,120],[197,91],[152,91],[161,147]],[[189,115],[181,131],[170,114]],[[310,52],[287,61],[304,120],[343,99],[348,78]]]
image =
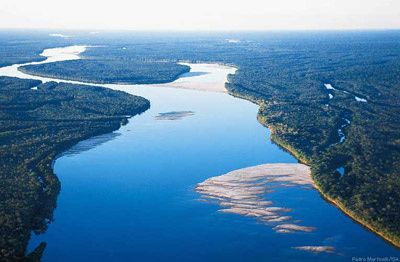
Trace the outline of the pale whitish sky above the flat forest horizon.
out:
[[[1,0],[0,28],[400,29],[400,0]]]

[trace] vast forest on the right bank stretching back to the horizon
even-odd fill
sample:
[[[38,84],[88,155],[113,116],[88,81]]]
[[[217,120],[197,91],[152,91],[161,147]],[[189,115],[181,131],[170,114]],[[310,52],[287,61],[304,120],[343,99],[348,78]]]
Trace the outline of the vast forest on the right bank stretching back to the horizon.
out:
[[[120,37],[85,57],[239,68],[229,77],[229,93],[260,105],[259,121],[276,143],[312,165],[325,197],[400,244],[399,31],[178,34],[153,42]],[[96,79],[97,72],[86,74]]]

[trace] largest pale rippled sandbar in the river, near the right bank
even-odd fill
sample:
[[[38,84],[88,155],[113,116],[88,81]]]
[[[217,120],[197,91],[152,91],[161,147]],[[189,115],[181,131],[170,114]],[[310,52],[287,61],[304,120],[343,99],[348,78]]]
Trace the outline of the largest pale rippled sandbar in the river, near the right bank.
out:
[[[305,233],[316,228],[298,225],[287,215],[291,210],[274,206],[266,198],[273,190],[287,186],[314,187],[310,168],[303,164],[265,164],[243,168],[198,184],[196,192],[203,199],[219,204],[224,213],[254,217],[261,223],[275,225],[277,233]],[[288,223],[288,221],[290,221]]]

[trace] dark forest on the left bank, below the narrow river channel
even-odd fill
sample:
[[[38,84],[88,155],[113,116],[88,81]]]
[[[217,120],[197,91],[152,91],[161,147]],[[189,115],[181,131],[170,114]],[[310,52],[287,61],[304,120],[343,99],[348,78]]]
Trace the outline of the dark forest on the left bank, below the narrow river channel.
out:
[[[46,244],[25,257],[26,247],[31,232],[45,232],[53,220],[57,155],[149,107],[102,87],[0,77],[0,261],[39,261]]]

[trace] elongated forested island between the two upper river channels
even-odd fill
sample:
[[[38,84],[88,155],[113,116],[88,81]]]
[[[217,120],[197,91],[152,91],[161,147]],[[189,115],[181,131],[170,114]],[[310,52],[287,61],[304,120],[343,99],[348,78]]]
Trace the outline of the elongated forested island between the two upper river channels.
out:
[[[189,72],[190,68],[171,62],[110,58],[28,65],[19,70],[33,75],[98,84],[156,84],[172,82],[179,75]]]

